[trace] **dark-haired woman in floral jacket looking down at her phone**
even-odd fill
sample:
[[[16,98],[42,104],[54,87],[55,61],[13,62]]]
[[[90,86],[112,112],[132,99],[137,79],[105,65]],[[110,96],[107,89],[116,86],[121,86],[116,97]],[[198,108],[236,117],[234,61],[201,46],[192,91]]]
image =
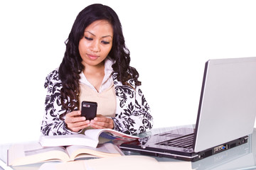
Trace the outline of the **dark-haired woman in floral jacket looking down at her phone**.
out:
[[[153,118],[136,69],[129,66],[122,26],[109,6],[92,4],[78,14],[60,67],[48,74],[43,135],[111,128],[129,135],[152,128]],[[97,117],[81,116],[82,101],[97,102]]]

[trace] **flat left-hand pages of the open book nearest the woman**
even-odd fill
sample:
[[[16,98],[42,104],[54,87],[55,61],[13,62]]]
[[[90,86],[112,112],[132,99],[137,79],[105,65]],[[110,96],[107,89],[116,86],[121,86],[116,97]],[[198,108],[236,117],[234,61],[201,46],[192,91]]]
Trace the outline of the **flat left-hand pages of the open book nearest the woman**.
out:
[[[39,142],[43,147],[85,145],[88,147],[97,147],[98,140],[92,140],[91,137],[83,134],[74,135],[41,135]]]

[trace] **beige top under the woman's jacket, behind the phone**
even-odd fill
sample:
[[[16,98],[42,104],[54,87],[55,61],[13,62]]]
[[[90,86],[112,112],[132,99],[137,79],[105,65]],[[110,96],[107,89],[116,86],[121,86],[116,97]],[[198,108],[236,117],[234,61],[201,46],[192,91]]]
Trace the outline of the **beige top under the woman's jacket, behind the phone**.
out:
[[[104,115],[106,117],[114,117],[117,108],[117,99],[114,91],[114,84],[101,93],[90,88],[86,84],[80,84],[80,108],[82,101],[97,102],[97,115]]]

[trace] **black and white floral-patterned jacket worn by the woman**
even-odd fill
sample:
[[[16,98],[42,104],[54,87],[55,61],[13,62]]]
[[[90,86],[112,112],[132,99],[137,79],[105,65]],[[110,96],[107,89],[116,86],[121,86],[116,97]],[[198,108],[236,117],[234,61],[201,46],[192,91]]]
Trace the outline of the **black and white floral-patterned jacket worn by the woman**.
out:
[[[133,79],[127,81],[132,87],[123,85],[120,81],[117,81],[117,73],[113,73],[112,78],[117,96],[116,114],[112,118],[114,120],[114,130],[129,135],[150,130],[153,126],[153,118],[150,114],[149,105],[139,86],[135,86]],[[45,88],[47,89],[46,110],[41,125],[41,132],[43,135],[67,135],[74,133],[68,130],[64,120],[60,119],[60,115],[66,111],[60,103],[62,84],[58,77],[58,69],[48,74]]]

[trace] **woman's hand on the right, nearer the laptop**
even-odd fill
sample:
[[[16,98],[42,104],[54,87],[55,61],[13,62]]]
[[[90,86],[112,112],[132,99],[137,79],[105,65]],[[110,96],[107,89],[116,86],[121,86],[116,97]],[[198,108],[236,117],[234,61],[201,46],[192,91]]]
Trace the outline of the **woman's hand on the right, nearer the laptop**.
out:
[[[112,118],[106,118],[103,115],[97,115],[96,118],[90,120],[90,126],[95,129],[113,129],[114,121]]]

